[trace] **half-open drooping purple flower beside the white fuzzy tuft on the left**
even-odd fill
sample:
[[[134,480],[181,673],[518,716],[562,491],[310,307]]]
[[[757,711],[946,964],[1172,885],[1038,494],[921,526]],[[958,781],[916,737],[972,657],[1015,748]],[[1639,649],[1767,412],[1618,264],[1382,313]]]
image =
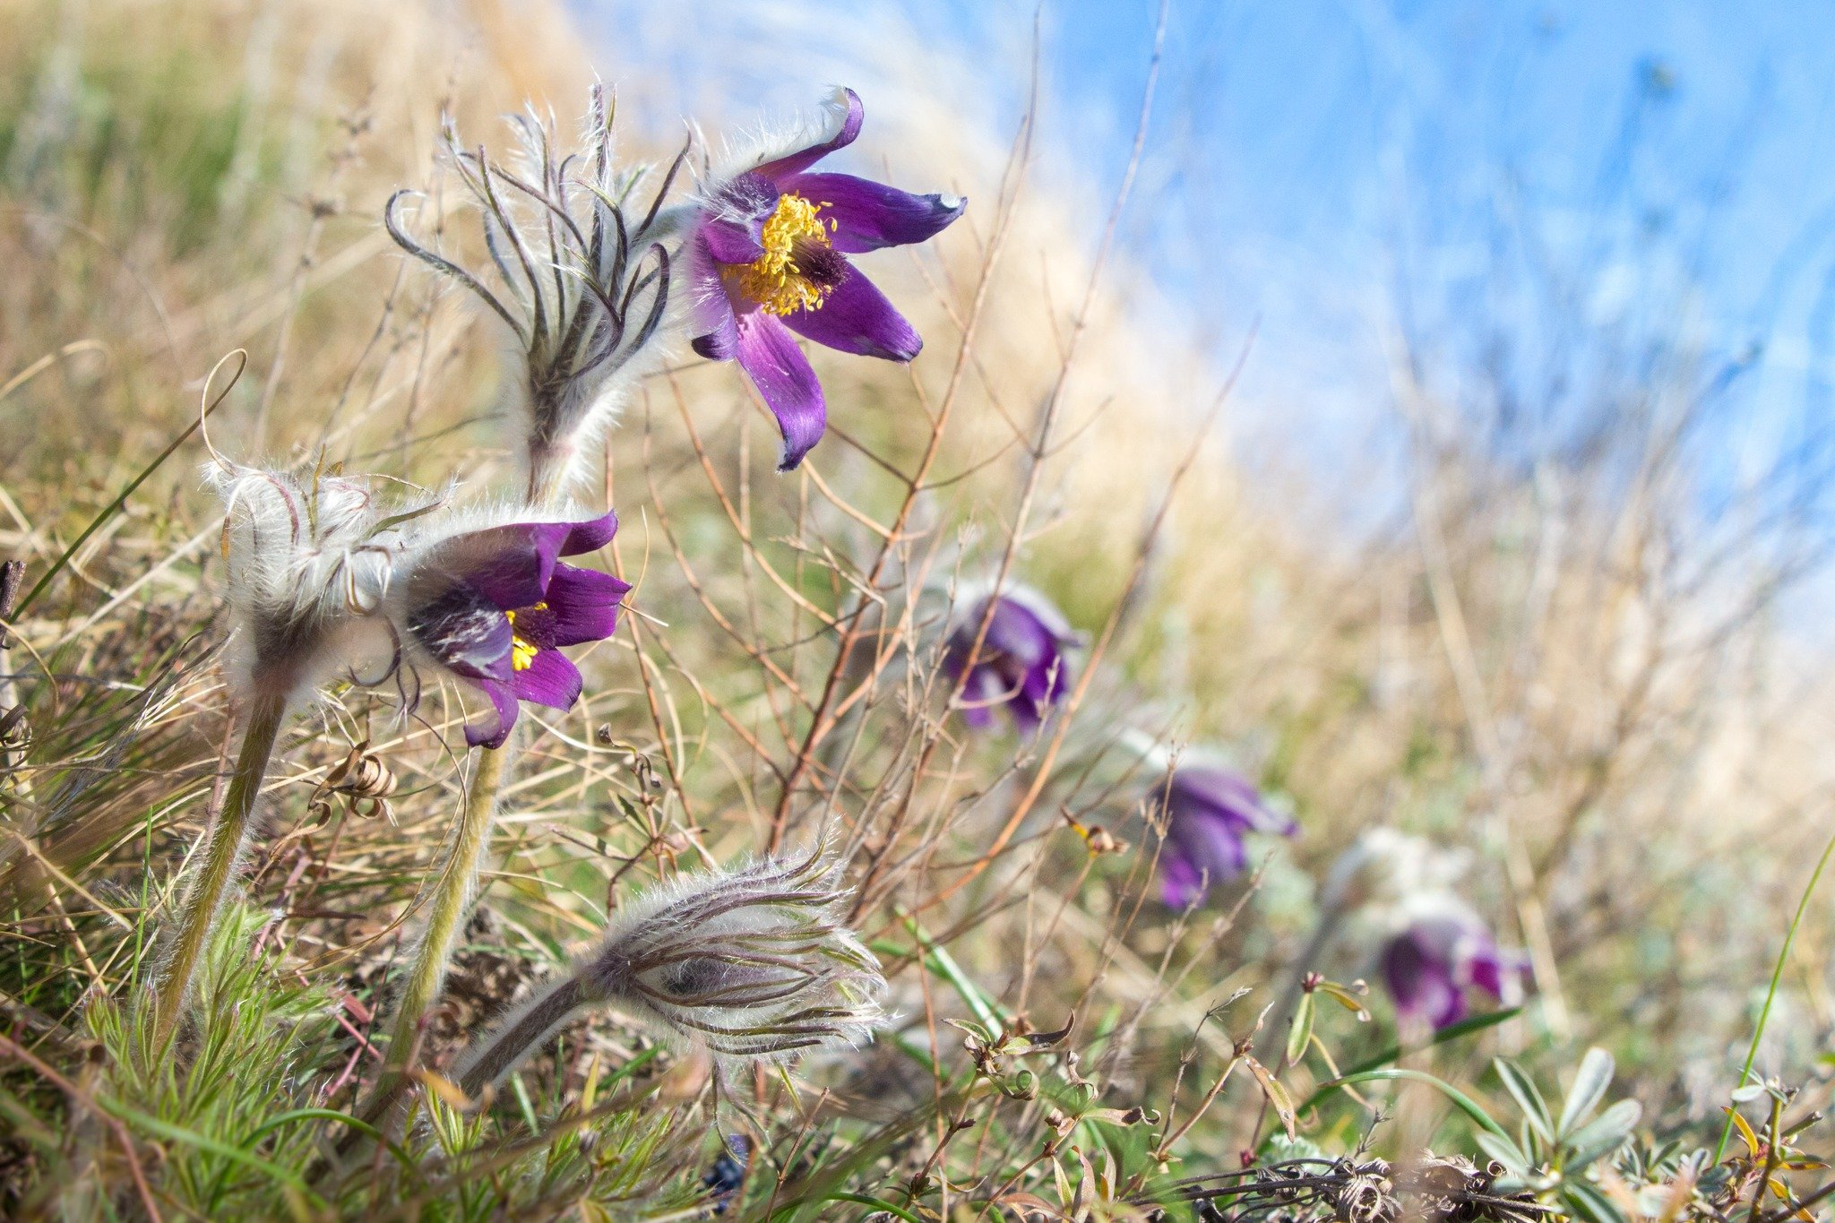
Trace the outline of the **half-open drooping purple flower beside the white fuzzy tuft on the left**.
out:
[[[580,669],[562,647],[611,636],[631,587],[560,557],[595,552],[617,530],[609,512],[508,523],[448,535],[415,557],[398,618],[409,651],[483,689],[495,711],[466,724],[466,743],[503,746],[523,700],[565,710],[580,699]]]

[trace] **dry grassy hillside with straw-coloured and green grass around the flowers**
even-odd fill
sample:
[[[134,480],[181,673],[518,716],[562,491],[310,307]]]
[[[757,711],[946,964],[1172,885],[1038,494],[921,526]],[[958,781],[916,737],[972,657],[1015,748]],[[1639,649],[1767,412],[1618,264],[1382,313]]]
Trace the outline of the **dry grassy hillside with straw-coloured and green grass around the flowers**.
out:
[[[1211,435],[1233,356],[1130,314],[1112,286],[1143,270],[1072,253],[1101,209],[1033,191],[1024,132],[1011,156],[974,134],[949,183],[973,207],[938,244],[872,257],[929,348],[908,370],[818,356],[833,431],[806,469],[771,471],[771,418],[686,348],[626,407],[604,563],[637,614],[528,739],[422,1056],[450,1065],[657,880],[826,820],[892,983],[881,1038],[716,1107],[703,1056],[600,1014],[494,1098],[426,1080],[398,1144],[336,1155],[464,768],[450,695],[404,721],[350,689],[286,730],[244,900],[167,1056],[145,992],[233,748],[220,508],[202,438],[167,447],[244,350],[218,451],[514,480],[501,337],[402,259],[382,204],[435,185],[422,216],[464,248],[439,112],[497,143],[525,99],[578,114],[591,75],[560,15],[495,0],[20,0],[7,28],[0,556],[29,594],[0,667],[0,708],[24,710],[0,757],[9,1212],[1182,1217],[1237,1184],[1218,1210],[1384,1217],[1356,1212],[1367,1188],[1459,1217],[1767,1217],[1787,1199],[1754,1205],[1762,1181],[1818,1184],[1741,1139],[1734,1162],[1686,1162],[1716,1146],[1767,981],[1778,1106],[1745,1100],[1752,1142],[1828,1098],[1826,906],[1773,977],[1828,836],[1828,691],[1773,612],[1802,557],[1762,523],[1699,528],[1674,414],[1618,413],[1606,444],[1519,471],[1406,383],[1393,517],[1307,526],[1305,480],[1251,482]],[[914,163],[947,161],[929,139]],[[1039,739],[965,733],[938,699],[945,592],[1004,567],[1090,642]],[[1169,911],[1130,732],[1224,744],[1303,834]],[[395,779],[385,807],[325,788],[360,744]],[[1284,1049],[1288,1007],[1257,1016],[1303,972],[1374,981],[1409,876],[1325,880],[1376,825],[1462,853],[1459,891],[1536,985],[1406,1054],[1380,988],[1367,1021],[1321,1001],[1318,1043]],[[1536,1120],[1492,1063],[1585,1096],[1595,1045],[1618,1065],[1602,1104],[1642,1104],[1606,1151],[1576,1137],[1591,1113]],[[1417,1078],[1323,1087],[1351,1065]],[[1510,1137],[1481,1140],[1492,1117]],[[1490,1192],[1499,1142],[1540,1172],[1530,1199]]]

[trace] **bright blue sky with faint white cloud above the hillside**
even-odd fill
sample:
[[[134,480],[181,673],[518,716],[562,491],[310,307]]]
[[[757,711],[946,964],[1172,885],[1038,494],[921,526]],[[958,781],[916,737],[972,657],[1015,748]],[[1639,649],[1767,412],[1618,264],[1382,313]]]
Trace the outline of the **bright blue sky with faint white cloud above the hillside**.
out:
[[[1002,128],[1035,13],[576,6],[607,48],[662,68],[664,110],[796,106],[837,79],[872,99],[888,48],[916,39],[973,68],[978,95],[962,103]],[[1046,156],[1099,193],[1127,160],[1154,13],[1156,0],[1042,9]],[[1534,444],[1584,409],[1576,385],[1681,336],[1699,380],[1725,389],[1723,475],[1752,479],[1831,420],[1829,114],[1824,4],[1173,0],[1123,242],[1220,365],[1257,326],[1244,402],[1279,403],[1288,435],[1297,422],[1338,436],[1345,455],[1318,444],[1321,462],[1347,458],[1387,411],[1398,334],[1451,398],[1543,411]],[[1474,370],[1496,385],[1474,391]]]

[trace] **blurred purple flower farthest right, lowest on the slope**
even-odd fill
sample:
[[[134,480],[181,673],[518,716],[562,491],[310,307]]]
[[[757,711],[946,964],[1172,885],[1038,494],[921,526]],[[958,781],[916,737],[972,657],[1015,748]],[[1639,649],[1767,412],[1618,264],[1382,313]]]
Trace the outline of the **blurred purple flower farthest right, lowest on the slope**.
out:
[[[1472,988],[1499,1003],[1516,999],[1527,970],[1519,952],[1499,948],[1479,915],[1451,900],[1418,911],[1382,950],[1382,975],[1396,1018],[1435,1030],[1470,1014]]]

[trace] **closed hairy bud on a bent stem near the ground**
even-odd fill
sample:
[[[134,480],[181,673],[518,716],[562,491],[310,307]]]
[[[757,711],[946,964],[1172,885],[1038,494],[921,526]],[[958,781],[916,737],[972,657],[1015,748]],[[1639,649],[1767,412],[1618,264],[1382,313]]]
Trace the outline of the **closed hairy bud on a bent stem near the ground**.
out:
[[[455,1065],[475,1095],[560,1023],[615,1007],[716,1073],[851,1047],[884,1021],[879,961],[844,924],[840,864],[811,851],[686,875],[626,906],[573,972],[510,1012]]]

